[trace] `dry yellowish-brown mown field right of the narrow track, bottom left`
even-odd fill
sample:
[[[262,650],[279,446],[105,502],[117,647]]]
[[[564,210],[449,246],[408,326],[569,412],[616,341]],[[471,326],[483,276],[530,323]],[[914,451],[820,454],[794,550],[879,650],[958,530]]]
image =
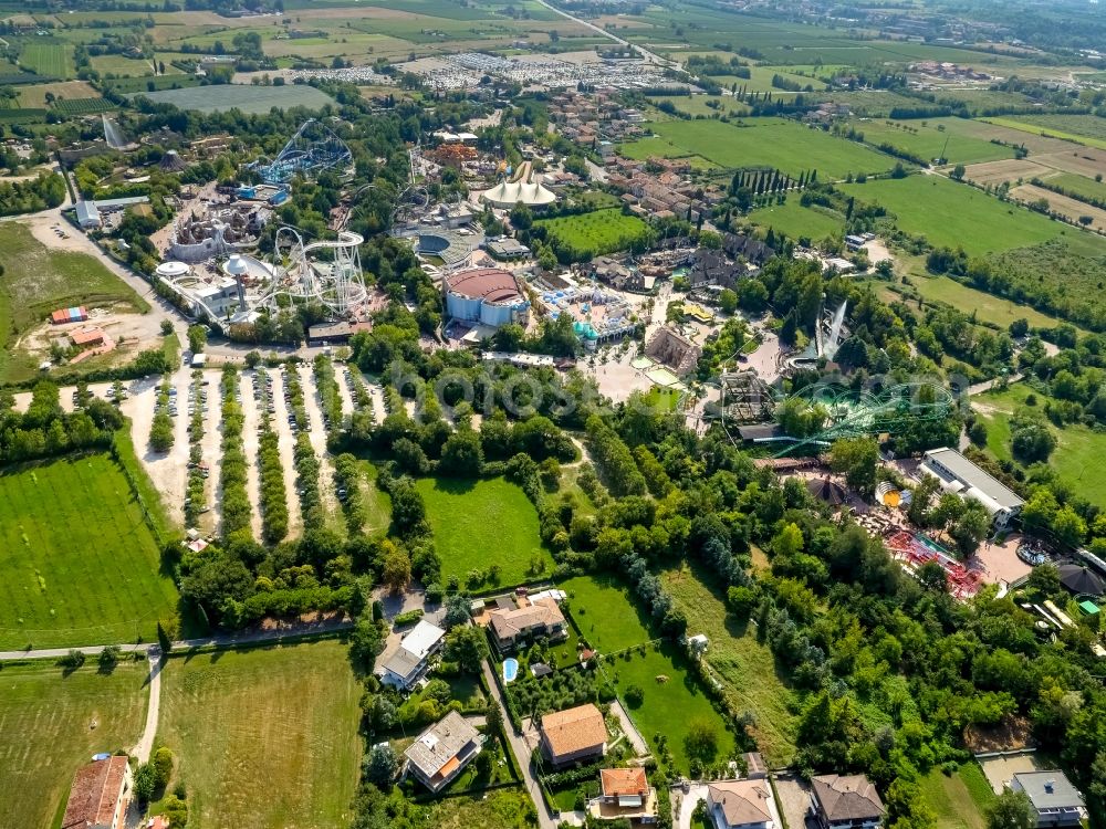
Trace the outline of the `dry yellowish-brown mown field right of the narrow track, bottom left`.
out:
[[[170,658],[157,738],[178,757],[190,829],[348,823],[359,696],[334,640]]]

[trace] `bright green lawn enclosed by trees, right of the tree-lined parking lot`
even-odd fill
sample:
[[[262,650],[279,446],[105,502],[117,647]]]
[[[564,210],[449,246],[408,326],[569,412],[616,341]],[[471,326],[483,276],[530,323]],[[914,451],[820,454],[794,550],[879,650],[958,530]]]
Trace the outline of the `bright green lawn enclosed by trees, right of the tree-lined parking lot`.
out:
[[[441,575],[463,585],[470,570],[500,566],[500,584],[520,585],[552,569],[538,534],[538,510],[502,479],[421,479],[416,484],[441,558]],[[534,567],[541,565],[540,571]]]

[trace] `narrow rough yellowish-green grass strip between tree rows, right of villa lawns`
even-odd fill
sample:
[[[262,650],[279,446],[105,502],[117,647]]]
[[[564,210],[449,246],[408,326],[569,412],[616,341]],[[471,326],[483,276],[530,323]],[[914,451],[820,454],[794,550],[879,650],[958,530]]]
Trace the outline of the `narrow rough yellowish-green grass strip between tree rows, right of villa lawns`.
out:
[[[707,664],[722,681],[723,693],[738,713],[752,711],[757,723],[749,732],[770,765],[790,763],[795,752],[795,717],[790,711],[792,692],[776,669],[775,658],[727,610],[722,598],[705,584],[698,569],[670,570],[661,577],[688,619],[688,633],[710,639]]]

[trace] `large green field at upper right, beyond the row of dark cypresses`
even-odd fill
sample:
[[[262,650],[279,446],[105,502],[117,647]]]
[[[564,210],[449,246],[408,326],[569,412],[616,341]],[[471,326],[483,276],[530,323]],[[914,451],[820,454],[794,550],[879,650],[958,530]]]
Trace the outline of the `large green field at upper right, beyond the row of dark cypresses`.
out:
[[[1024,248],[1064,231],[1061,222],[940,176],[878,179],[842,189],[883,204],[898,217],[900,230],[924,235],[933,245],[962,246],[971,255]]]

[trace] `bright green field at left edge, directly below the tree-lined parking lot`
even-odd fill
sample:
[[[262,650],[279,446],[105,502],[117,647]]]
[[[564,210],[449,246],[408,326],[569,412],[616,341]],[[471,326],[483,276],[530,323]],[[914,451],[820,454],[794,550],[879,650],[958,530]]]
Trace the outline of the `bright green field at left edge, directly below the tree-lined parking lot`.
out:
[[[0,647],[150,641],[173,580],[106,454],[0,474]]]

